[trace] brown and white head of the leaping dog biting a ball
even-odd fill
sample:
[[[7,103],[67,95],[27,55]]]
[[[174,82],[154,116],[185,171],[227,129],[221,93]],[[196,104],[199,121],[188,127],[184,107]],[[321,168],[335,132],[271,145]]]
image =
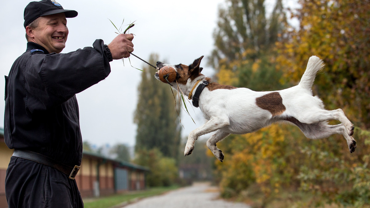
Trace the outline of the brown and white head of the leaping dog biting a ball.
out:
[[[176,79],[175,81],[171,82],[171,84],[178,83],[179,85],[186,85],[187,83],[195,80],[197,77],[202,75],[201,71],[203,68],[199,67],[202,58],[203,56],[195,59],[194,62],[189,66],[186,66],[184,64],[170,65],[157,61],[157,70],[159,71],[159,69],[165,66],[174,68],[176,71]],[[159,80],[158,71],[155,73],[155,78]]]

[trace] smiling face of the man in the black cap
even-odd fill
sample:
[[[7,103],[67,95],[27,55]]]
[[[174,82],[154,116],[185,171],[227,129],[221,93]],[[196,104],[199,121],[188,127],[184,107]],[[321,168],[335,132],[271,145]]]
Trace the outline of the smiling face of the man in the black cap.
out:
[[[43,46],[49,53],[60,53],[67,41],[68,28],[64,13],[39,17],[38,26],[33,29],[33,42]]]

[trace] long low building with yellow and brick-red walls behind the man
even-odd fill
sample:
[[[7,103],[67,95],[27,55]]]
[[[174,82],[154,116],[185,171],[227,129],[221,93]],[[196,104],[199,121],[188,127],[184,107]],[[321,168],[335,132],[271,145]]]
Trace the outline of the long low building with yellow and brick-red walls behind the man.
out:
[[[12,154],[13,150],[4,142],[4,129],[0,128],[0,208],[7,207],[5,174]],[[81,169],[75,180],[83,198],[98,197],[145,189],[145,174],[148,171],[143,166],[84,151]]]

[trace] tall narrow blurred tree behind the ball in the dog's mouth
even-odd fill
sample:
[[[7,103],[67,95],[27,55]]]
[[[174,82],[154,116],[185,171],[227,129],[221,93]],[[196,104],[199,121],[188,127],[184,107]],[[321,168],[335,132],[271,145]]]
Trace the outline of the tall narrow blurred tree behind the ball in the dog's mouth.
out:
[[[152,54],[149,62],[158,59],[158,55]],[[157,148],[165,157],[176,157],[181,137],[177,96],[169,85],[154,78],[150,67],[144,67],[141,79],[134,117],[138,125],[135,151]]]

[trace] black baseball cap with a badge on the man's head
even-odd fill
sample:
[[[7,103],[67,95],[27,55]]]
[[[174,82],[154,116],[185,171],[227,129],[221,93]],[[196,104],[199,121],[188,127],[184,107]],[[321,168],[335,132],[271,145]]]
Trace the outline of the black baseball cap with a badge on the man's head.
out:
[[[24,28],[40,16],[64,12],[66,18],[77,16],[77,11],[65,10],[55,0],[32,1],[24,8]]]

